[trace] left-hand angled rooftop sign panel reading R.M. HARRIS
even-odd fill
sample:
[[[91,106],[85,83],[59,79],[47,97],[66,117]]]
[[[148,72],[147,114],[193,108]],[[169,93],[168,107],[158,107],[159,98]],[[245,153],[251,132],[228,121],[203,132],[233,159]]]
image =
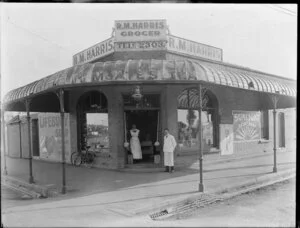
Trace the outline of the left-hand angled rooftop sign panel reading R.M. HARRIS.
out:
[[[88,63],[114,52],[114,39],[100,42],[73,56],[73,65]]]

